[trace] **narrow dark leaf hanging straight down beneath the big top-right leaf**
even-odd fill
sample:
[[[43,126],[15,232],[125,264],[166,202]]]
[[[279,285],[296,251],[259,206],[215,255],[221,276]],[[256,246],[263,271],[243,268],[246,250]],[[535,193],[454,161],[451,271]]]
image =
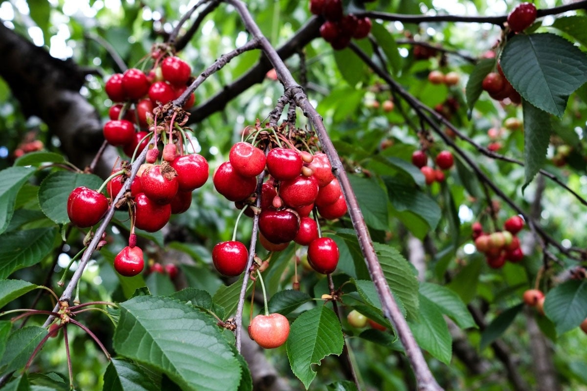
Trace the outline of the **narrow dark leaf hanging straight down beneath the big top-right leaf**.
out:
[[[539,110],[527,101],[522,102],[524,110],[524,186],[532,182],[534,176],[546,161],[546,149],[552,132],[550,115]]]

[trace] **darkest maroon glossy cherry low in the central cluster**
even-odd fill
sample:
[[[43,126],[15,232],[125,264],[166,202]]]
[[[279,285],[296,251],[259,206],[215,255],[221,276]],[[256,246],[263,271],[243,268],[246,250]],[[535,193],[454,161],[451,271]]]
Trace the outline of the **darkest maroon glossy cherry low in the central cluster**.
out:
[[[294,240],[299,229],[299,217],[288,209],[263,210],[259,215],[259,230],[271,243],[288,243]]]

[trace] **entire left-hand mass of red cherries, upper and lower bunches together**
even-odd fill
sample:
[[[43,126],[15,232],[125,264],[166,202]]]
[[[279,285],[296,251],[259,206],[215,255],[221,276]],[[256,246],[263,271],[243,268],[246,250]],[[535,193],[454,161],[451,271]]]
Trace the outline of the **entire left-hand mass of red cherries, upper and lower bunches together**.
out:
[[[188,148],[191,140],[189,129],[184,127],[188,120],[185,110],[193,106],[194,93],[180,103],[182,107],[175,102],[193,80],[191,67],[160,47],[154,47],[150,57],[153,67],[148,72],[131,68],[113,74],[105,86],[113,106],[110,120],[103,127],[104,139],[122,147],[130,161],[115,162],[112,175],[97,191],[79,187],[68,199],[68,215],[77,227],[96,225],[108,208],[127,207],[129,245],[115,257],[114,268],[128,277],[144,268],[135,227],[147,232],[163,228],[172,214],[190,207],[192,192],[209,176],[206,159],[188,152],[193,148]],[[114,203],[124,183],[131,179],[131,165],[144,148],[148,148],[145,161],[132,178],[129,191]],[[109,199],[102,193],[104,187]]]

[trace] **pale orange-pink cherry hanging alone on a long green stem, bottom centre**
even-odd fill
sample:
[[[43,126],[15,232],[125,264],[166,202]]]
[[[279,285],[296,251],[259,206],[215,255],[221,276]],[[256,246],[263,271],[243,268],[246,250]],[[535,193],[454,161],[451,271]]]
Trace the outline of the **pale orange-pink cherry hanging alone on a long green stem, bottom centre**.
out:
[[[278,313],[257,315],[249,325],[249,335],[261,348],[278,348],[288,339],[288,318]]]

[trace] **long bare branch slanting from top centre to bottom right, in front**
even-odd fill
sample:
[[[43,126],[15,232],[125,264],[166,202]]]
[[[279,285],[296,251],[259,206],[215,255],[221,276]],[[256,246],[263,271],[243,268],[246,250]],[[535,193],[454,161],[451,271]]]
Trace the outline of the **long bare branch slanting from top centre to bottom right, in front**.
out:
[[[410,361],[414,374],[416,375],[419,389],[421,391],[441,390],[442,388],[438,385],[436,379],[434,379],[434,376],[430,372],[426,360],[424,359],[419,346],[416,344],[414,336],[411,334],[410,327],[407,324],[406,319],[404,319],[397,302],[394,300],[389,285],[387,285],[383,270],[373,247],[373,242],[370,238],[369,230],[367,229],[365,219],[359,208],[359,203],[357,202],[355,193],[353,193],[352,187],[350,186],[349,178],[343,169],[342,162],[336,153],[336,149],[328,137],[328,132],[322,122],[322,117],[309,102],[308,97],[303,92],[302,88],[296,83],[288,68],[285,66],[285,63],[279,56],[279,53],[273,46],[271,46],[271,43],[269,43],[262,34],[259,26],[257,26],[257,23],[253,20],[251,13],[249,13],[245,3],[240,0],[226,0],[226,2],[237,9],[237,12],[241,16],[249,33],[259,39],[261,49],[265,52],[269,62],[271,62],[272,66],[275,68],[279,80],[284,85],[285,94],[289,94],[289,96],[295,100],[295,103],[302,109],[303,114],[312,121],[312,124],[316,129],[316,134],[318,135],[322,148],[328,156],[330,165],[332,165],[332,172],[338,179],[340,187],[342,188],[343,196],[348,206],[350,219],[357,233],[357,239],[359,240],[361,251],[363,256],[365,256],[367,268],[369,269],[370,276],[373,283],[375,283],[377,294],[383,305],[383,314],[390,319],[402,341],[406,356]]]

